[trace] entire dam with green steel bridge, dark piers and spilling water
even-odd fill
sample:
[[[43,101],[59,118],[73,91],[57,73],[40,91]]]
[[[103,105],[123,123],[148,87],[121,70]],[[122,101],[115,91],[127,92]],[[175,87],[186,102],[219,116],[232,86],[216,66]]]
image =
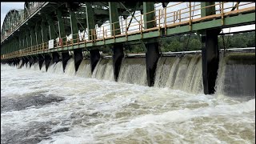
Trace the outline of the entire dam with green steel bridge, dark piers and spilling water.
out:
[[[254,2],[158,3],[26,2],[6,15],[1,62],[191,93],[255,95],[254,52],[218,49],[223,28],[255,23]],[[159,38],[190,33],[200,35],[202,52],[159,52]],[[145,57],[125,56],[134,44]],[[112,56],[101,55],[106,47]]]

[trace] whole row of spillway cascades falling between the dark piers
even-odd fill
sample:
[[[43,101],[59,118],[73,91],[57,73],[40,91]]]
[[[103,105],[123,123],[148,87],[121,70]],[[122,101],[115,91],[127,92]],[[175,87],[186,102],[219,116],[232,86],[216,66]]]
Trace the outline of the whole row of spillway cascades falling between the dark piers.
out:
[[[254,53],[220,54],[215,93],[234,97],[255,97],[254,58]],[[22,60],[17,67],[20,66],[22,66]],[[29,66],[26,67],[29,68]],[[39,63],[34,62],[30,69],[39,70]],[[42,70],[46,71],[44,62]],[[51,62],[48,72],[62,74],[62,62]],[[83,59],[78,70],[75,71],[74,58],[70,58],[66,64],[65,74],[114,81],[113,59],[100,58],[91,73],[89,59]],[[144,56],[123,58],[118,82],[147,86],[146,58]],[[202,94],[202,54],[176,54],[176,56],[160,57],[157,63],[154,87]]]

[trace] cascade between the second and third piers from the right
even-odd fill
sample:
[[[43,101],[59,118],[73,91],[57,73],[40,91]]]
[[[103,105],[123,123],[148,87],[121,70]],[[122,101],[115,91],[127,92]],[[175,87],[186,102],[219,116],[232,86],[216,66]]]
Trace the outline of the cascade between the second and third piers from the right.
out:
[[[123,58],[118,82],[147,86],[145,58]]]

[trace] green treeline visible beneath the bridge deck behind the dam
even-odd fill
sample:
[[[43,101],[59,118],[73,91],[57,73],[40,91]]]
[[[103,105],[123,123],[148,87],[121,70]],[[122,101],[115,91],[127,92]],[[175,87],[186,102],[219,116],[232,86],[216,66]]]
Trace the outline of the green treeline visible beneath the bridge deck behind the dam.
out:
[[[173,37],[161,38],[159,41],[159,45],[162,52],[201,50],[202,44],[200,39],[200,36],[198,36],[197,34],[178,35]],[[218,47],[221,49],[255,47],[255,31],[223,36],[219,35]],[[145,50],[141,45],[135,45],[130,46],[130,48],[126,50],[126,52],[144,53]]]

